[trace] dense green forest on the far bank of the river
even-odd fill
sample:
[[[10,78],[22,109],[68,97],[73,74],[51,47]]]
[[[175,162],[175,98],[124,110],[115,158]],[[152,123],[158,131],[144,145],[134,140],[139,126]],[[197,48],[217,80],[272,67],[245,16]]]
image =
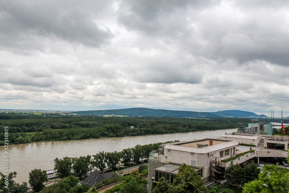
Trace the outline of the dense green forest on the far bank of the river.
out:
[[[269,119],[260,119],[260,122]],[[278,120],[275,120],[277,122]],[[287,120],[284,122],[286,123]],[[31,141],[77,140],[100,137],[181,133],[247,126],[249,118],[221,117],[192,119],[186,117],[102,117],[51,115],[0,115],[0,145],[4,127],[9,127],[10,144]],[[257,122],[257,121],[255,121]],[[134,126],[134,128],[130,128]]]

